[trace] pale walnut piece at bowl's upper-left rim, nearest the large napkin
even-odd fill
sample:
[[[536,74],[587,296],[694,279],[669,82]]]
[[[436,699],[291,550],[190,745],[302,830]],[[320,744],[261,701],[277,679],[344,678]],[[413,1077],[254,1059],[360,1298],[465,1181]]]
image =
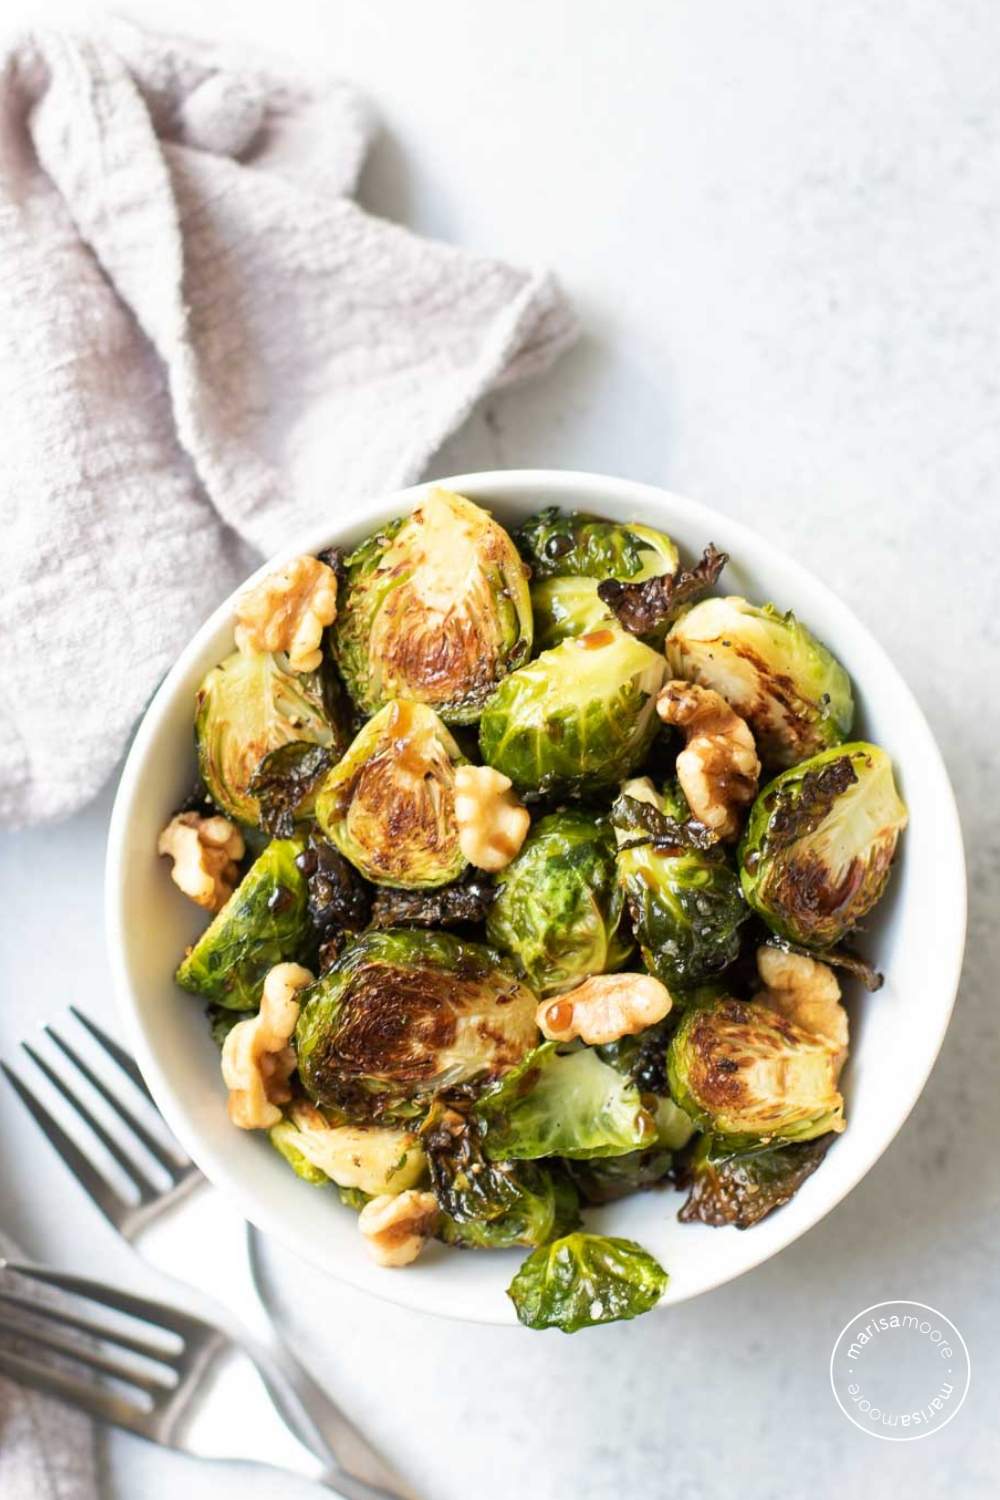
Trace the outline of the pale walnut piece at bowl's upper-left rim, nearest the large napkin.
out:
[[[337,576],[319,558],[292,558],[240,597],[235,618],[240,651],[286,651],[292,672],[313,672],[337,618]]]

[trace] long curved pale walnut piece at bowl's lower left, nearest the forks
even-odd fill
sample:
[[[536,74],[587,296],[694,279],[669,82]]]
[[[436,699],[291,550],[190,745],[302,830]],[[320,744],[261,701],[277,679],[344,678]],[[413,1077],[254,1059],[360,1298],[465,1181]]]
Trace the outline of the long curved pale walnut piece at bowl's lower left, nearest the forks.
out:
[[[264,980],[256,1016],[237,1022],[222,1046],[222,1077],[229,1090],[229,1119],[240,1130],[270,1130],[288,1104],[295,1068],[291,1038],[298,1020],[295,996],[313,975],[300,963],[277,963]]]

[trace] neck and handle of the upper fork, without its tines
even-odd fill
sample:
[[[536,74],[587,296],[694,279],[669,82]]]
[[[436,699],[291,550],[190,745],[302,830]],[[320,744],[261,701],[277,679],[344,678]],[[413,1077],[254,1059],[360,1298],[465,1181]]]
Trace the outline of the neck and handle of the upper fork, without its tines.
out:
[[[138,1248],[159,1270],[187,1290],[198,1287],[229,1314],[220,1322],[250,1344],[298,1437],[324,1464],[334,1461],[316,1476],[321,1484],[343,1500],[417,1500],[282,1340],[259,1292],[250,1234],[240,1214],[204,1184],[186,1197],[183,1212],[150,1222]]]

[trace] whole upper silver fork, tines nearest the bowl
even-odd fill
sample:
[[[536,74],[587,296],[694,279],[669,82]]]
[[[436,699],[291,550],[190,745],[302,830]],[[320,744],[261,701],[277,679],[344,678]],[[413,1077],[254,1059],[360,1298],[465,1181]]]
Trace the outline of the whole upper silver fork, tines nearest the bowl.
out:
[[[135,1059],[76,1006],[70,1005],[69,1010],[156,1110]],[[160,1140],[136,1119],[135,1110],[124,1102],[120,1090],[97,1074],[75,1046],[52,1026],[43,1026],[43,1032],[63,1054],[67,1066],[61,1071],[54,1068],[27,1041],[21,1042],[24,1052],[132,1182],[135,1202],[129,1202],[108,1182],[82,1146],[67,1136],[37,1095],[6,1062],[0,1062],[0,1068],[105,1218],[144,1260],[175,1281],[210,1294],[220,1305],[219,1320],[253,1350],[276,1400],[300,1437],[313,1452],[333,1458],[339,1466],[340,1490],[346,1500],[355,1497],[417,1500],[414,1490],[385,1464],[285,1344],[261,1298],[249,1226],[208,1185],[169,1134],[162,1116],[159,1122],[163,1137],[169,1140],[169,1149],[165,1149]],[[76,1078],[70,1083],[73,1074]],[[111,1136],[88,1108],[79,1095],[78,1078],[85,1080],[117,1116],[123,1126],[120,1137]],[[139,1160],[139,1148],[144,1148],[163,1170],[166,1185],[157,1186],[150,1180],[148,1168]],[[223,1310],[228,1310],[229,1316]],[[237,1323],[232,1322],[232,1314]]]

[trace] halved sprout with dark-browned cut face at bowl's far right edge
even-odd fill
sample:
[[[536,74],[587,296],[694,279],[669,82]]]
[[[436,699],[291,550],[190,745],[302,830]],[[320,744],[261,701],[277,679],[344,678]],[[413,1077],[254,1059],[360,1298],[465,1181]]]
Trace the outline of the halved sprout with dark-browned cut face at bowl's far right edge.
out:
[[[759,794],[739,846],[744,894],[780,936],[828,948],[880,900],[906,822],[885,750],[825,750]]]

